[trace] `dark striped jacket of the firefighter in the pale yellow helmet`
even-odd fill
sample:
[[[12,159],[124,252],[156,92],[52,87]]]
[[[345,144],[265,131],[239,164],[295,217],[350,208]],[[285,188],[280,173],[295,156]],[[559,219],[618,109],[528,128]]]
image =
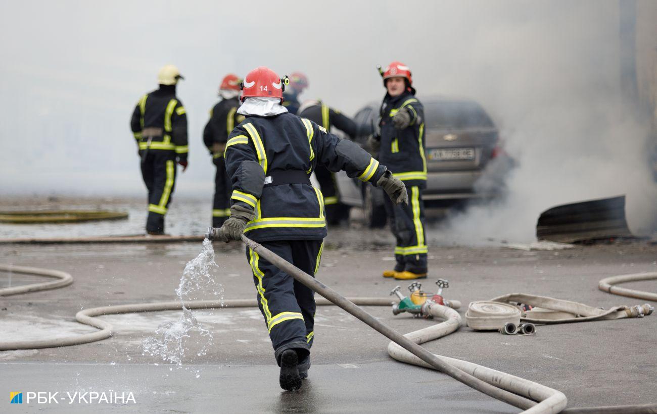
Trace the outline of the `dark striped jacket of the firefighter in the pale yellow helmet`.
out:
[[[179,161],[187,161],[187,115],[175,96],[175,85],[160,85],[142,96],[130,127],[140,150],[173,151]]]

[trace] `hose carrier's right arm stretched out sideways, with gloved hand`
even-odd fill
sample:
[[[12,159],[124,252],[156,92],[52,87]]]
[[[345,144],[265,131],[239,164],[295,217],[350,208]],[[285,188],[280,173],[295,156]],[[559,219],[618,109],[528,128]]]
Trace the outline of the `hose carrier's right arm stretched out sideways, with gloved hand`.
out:
[[[357,177],[382,188],[395,204],[408,204],[408,194],[403,182],[392,176],[385,165],[380,165],[367,151],[350,140],[341,140],[338,136],[326,133],[316,124],[317,153],[319,162],[328,170],[337,173],[344,170],[351,178]]]

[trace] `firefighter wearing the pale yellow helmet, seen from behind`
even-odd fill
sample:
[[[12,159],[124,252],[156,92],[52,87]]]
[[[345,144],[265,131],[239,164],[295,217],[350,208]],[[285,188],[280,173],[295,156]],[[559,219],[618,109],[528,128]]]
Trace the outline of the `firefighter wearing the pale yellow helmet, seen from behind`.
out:
[[[178,79],[185,79],[173,65],[158,72],[160,89],[141,97],[130,127],[139,147],[141,175],[148,188],[148,234],[164,234],[166,215],[175,186],[175,163],[187,169],[187,115],[175,96]]]

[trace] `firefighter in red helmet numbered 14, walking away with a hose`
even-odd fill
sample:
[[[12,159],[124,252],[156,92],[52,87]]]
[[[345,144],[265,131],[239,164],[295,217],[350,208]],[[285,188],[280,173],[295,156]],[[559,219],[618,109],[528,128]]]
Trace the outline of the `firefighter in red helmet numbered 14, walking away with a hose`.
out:
[[[408,203],[403,183],[365,150],[282,105],[286,79],[263,66],[242,83],[246,119],[229,136],[225,158],[233,182],[231,217],[209,237],[257,241],[310,275],[315,275],[327,235],[324,201],[309,176],[317,165],[345,170],[351,177],[382,187],[394,203]],[[313,291],[258,253],[247,249],[274,355],[285,390],[301,387],[310,366],[315,331]]]

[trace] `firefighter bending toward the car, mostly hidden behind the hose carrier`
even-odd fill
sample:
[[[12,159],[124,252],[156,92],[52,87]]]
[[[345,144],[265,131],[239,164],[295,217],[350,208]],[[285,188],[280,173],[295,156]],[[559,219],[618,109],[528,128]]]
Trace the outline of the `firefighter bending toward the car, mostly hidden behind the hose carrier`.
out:
[[[328,132],[330,132],[330,127],[336,127],[351,139],[355,138],[358,132],[356,124],[350,117],[330,108],[321,101],[304,102],[297,115],[321,125]],[[319,182],[319,189],[324,195],[328,224],[340,224],[340,221],[348,219],[349,206],[340,203],[340,192],[338,192],[335,174],[328,171],[323,165],[317,165],[315,177]]]

